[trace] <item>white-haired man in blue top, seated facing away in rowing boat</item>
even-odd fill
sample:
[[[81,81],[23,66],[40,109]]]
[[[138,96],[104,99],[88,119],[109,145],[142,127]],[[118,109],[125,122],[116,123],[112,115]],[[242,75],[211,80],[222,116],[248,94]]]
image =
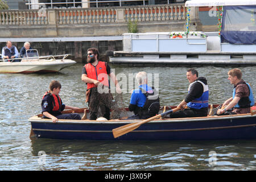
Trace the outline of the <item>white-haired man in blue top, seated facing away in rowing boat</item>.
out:
[[[134,115],[127,119],[147,119],[159,113],[160,101],[158,91],[147,85],[147,73],[139,72],[136,75],[138,89],[131,90],[129,110]]]

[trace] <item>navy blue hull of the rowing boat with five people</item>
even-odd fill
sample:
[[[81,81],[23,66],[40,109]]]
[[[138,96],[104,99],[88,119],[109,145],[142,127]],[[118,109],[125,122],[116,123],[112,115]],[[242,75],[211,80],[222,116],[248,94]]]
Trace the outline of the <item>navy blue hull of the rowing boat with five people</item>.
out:
[[[83,140],[256,139],[256,115],[156,120],[114,138],[112,130],[139,121],[59,121],[29,119],[36,137]]]

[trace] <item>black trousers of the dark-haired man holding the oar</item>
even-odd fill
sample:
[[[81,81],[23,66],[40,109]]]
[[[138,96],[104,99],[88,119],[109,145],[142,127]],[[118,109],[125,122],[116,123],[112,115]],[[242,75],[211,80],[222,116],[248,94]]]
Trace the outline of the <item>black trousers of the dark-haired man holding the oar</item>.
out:
[[[204,117],[208,114],[208,108],[202,109],[184,109],[176,111],[175,113],[170,114],[170,118],[191,118],[191,117]]]

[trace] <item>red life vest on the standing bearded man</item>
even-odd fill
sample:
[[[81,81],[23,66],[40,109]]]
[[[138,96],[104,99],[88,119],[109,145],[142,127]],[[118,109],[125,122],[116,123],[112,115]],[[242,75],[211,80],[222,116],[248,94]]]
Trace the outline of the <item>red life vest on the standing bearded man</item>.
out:
[[[103,61],[98,61],[96,67],[92,64],[85,64],[85,69],[88,78],[92,78],[93,80],[98,80],[105,86],[109,87],[109,77],[106,71],[106,63]],[[96,87],[93,83],[87,83],[87,89]]]

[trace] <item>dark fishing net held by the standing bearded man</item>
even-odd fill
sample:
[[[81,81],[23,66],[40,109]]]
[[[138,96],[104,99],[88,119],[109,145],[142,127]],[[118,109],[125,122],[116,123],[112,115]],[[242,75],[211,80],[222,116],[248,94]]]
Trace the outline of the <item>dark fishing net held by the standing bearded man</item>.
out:
[[[97,118],[99,118],[103,117],[106,112],[105,107],[111,110],[110,119],[127,117],[122,94],[99,93],[97,88],[92,88],[90,90],[89,110],[93,113],[97,113]]]

